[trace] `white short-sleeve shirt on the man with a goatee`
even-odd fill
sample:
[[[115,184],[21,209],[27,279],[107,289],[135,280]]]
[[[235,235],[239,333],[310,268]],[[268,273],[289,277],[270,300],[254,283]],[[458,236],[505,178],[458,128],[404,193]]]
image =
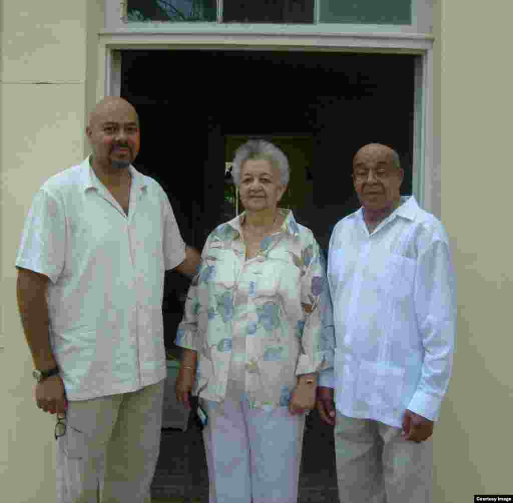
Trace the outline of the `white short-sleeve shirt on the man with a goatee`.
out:
[[[129,169],[128,216],[87,158],[43,185],[25,222],[16,266],[51,280],[50,340],[69,400],[166,377],[164,272],[185,243],[159,183]]]

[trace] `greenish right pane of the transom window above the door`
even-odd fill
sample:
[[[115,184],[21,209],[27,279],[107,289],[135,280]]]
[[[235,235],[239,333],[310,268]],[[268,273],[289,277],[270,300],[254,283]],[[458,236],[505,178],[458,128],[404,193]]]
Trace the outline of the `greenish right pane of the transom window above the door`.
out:
[[[319,0],[321,23],[411,24],[411,0]]]

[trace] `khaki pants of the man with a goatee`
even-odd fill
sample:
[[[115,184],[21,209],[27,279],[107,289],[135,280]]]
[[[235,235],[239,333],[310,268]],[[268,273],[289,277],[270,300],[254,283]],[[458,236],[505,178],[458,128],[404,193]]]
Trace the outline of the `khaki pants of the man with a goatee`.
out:
[[[164,381],[70,401],[57,445],[58,503],[149,503],[159,457]]]

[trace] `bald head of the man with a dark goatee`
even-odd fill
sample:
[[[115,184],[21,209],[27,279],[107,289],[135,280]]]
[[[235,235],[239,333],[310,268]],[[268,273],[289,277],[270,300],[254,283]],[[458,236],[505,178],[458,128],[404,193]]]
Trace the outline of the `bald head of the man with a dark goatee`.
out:
[[[86,133],[95,169],[125,169],[139,153],[139,117],[133,105],[123,98],[109,96],[100,101],[89,115]]]

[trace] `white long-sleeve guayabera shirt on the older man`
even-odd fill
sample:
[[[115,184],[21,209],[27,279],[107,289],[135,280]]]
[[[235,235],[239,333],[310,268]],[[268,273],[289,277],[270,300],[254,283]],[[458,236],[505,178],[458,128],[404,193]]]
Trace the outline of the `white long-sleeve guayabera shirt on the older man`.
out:
[[[370,235],[363,209],[330,239],[335,389],[339,412],[401,427],[405,409],[437,420],[452,367],[456,281],[440,221],[402,204]]]

